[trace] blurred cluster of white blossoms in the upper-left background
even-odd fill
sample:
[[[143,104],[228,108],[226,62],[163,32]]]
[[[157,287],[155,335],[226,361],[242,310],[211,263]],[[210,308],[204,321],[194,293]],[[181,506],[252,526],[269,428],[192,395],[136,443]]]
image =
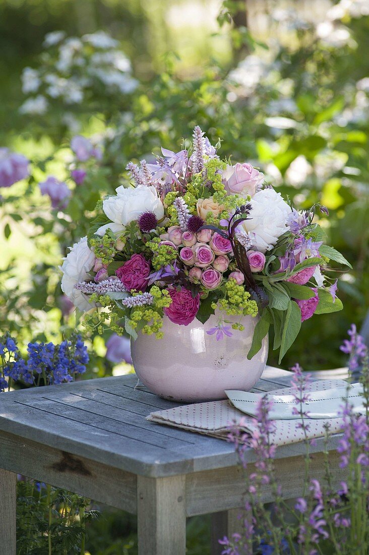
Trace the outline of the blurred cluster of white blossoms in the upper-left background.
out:
[[[94,94],[92,101],[98,102],[102,85],[104,97],[131,94],[138,87],[129,59],[108,33],[98,31],[79,38],[55,31],[47,34],[43,46],[46,50],[39,67],[23,70],[22,89],[28,95],[21,107],[23,114],[44,114],[52,104],[68,109]]]

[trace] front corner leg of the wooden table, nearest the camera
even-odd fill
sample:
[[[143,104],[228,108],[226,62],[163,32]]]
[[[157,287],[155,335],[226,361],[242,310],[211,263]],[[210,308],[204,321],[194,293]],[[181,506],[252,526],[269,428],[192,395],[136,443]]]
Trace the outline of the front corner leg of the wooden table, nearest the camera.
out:
[[[137,477],[139,555],[184,555],[185,476]]]

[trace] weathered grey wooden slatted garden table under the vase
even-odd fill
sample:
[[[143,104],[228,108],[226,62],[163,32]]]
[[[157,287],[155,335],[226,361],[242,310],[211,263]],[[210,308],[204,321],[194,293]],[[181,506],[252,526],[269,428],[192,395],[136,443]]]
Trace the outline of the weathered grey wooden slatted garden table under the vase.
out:
[[[289,386],[291,373],[267,367],[255,391]],[[183,555],[186,517],[213,513],[212,553],[237,526],[244,477],[230,443],[145,420],[178,405],[145,389],[134,375],[38,387],[0,395],[0,555],[16,553],[17,473],[138,516],[140,555]],[[181,403],[183,404],[183,403]],[[336,447],[337,436],[329,448]],[[323,442],[312,448],[322,477]],[[302,490],[304,446],[277,450],[286,499]],[[330,459],[339,482],[338,456]],[[250,471],[253,453],[250,450]],[[3,470],[1,470],[3,469]],[[265,502],[271,501],[266,486]]]

